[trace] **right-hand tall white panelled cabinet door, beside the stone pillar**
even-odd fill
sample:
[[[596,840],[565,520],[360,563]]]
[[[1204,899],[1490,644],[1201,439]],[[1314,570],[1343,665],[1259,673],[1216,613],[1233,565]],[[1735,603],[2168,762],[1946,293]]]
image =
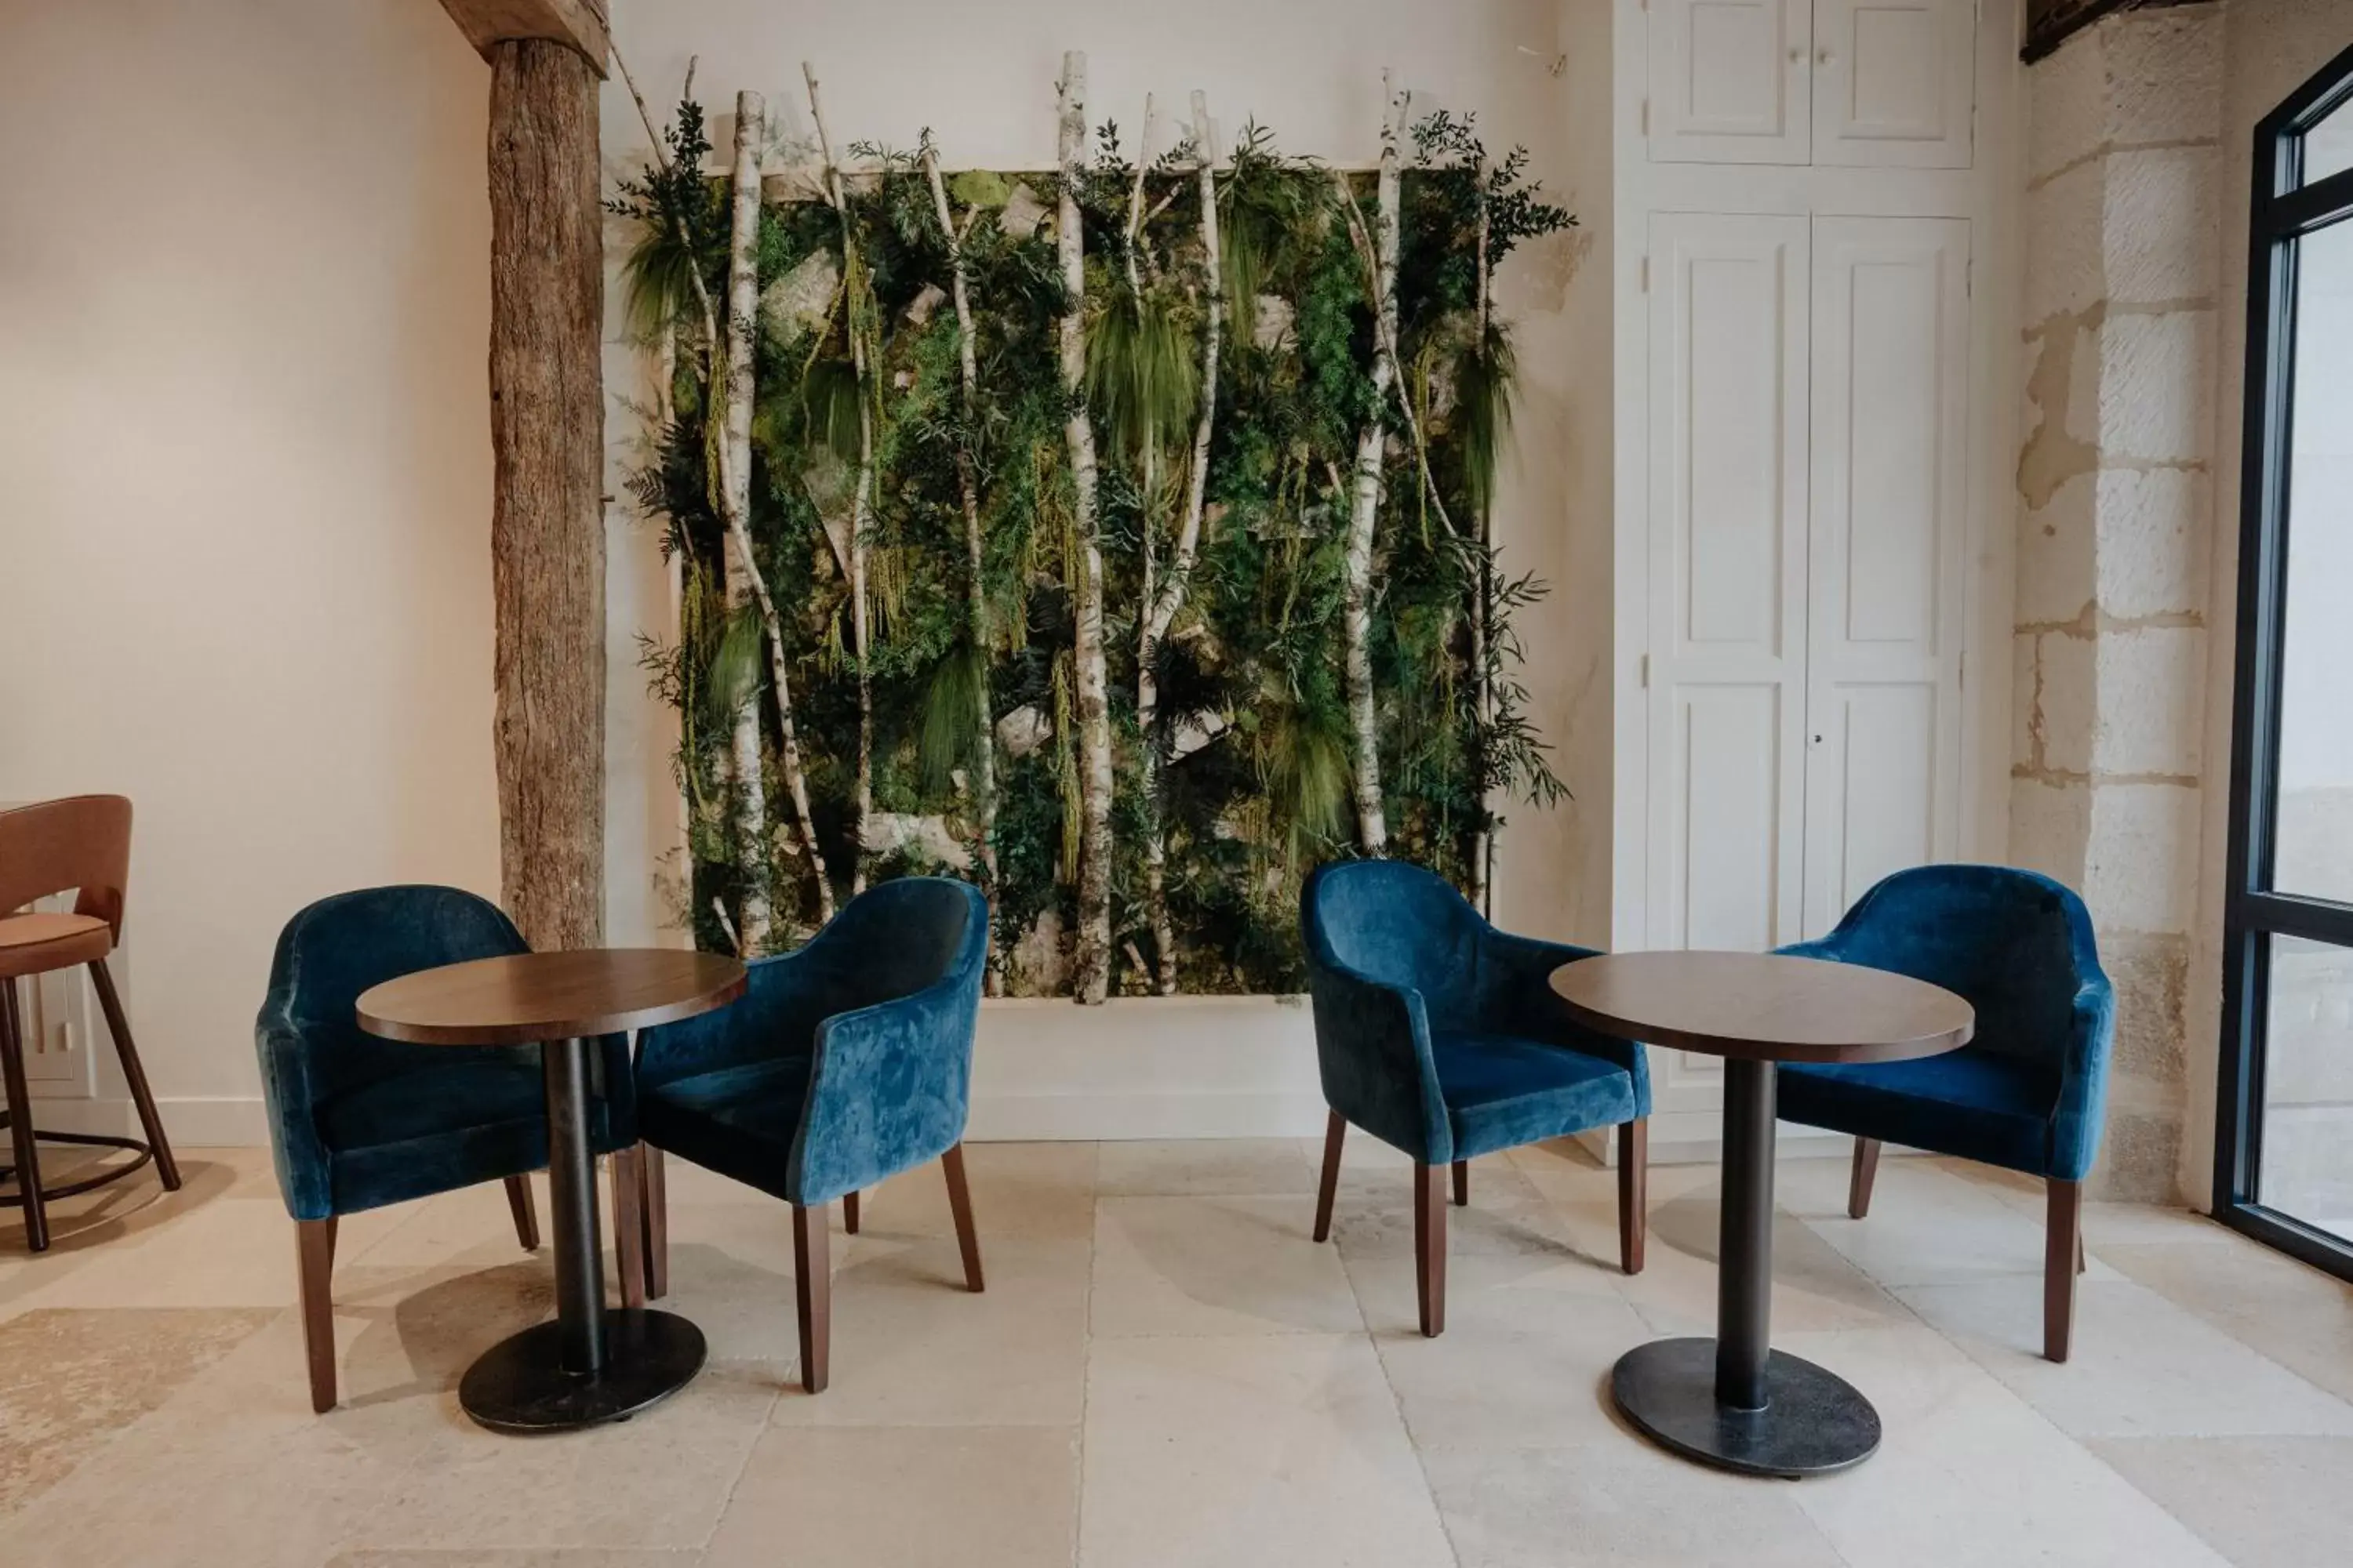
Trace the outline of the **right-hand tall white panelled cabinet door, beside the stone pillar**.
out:
[[[1960,844],[1969,223],[1814,219],[1805,933]]]

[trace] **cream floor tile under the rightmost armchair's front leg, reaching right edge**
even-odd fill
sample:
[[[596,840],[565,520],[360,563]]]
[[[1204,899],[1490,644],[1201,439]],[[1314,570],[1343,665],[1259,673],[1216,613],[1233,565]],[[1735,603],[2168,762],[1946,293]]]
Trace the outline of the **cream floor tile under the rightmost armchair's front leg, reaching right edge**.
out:
[[[1897,1295],[2073,1436],[2353,1434],[2353,1406],[2125,1279],[2080,1284],[2064,1366],[2040,1354],[2033,1281]]]

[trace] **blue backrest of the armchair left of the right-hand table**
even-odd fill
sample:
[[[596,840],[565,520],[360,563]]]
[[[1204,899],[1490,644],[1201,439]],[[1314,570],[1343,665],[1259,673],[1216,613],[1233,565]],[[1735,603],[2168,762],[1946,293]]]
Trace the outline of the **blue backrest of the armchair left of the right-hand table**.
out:
[[[1454,884],[1407,860],[1334,860],[1299,891],[1308,964],[1337,959],[1384,985],[1409,985],[1433,1020],[1475,992],[1485,929]]]

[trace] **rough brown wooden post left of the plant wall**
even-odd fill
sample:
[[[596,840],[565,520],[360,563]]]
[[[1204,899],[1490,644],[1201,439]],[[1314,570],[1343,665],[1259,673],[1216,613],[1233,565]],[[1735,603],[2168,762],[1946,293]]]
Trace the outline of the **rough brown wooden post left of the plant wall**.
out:
[[[489,61],[489,515],[499,898],[605,933],[600,0],[442,0]]]

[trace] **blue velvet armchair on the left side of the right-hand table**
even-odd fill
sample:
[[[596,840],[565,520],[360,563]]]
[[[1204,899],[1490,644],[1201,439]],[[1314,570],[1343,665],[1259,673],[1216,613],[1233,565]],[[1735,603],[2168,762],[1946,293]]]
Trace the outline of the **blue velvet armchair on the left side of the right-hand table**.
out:
[[[1355,1124],[1414,1157],[1421,1333],[1445,1331],[1445,1199],[1468,1161],[1541,1138],[1619,1128],[1619,1265],[1642,1269],[1649,1067],[1642,1046],[1567,1016],[1551,976],[1586,947],[1497,931],[1442,877],[1402,860],[1318,867],[1299,896],[1325,1131],[1315,1239],[1332,1234],[1339,1152]]]

